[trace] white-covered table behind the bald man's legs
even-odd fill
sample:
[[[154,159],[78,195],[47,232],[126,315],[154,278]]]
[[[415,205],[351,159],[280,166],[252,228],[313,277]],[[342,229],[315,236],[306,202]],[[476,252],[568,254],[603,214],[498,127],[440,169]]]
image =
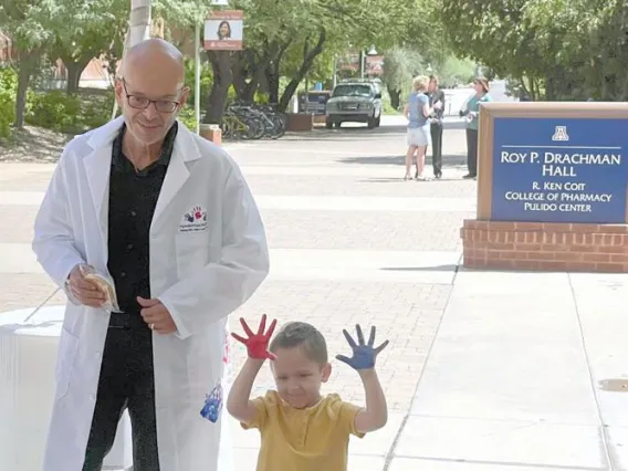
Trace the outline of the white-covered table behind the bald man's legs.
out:
[[[0,313],[0,463],[7,471],[40,471],[54,397],[54,365],[64,306]],[[125,412],[103,470],[133,465]]]

